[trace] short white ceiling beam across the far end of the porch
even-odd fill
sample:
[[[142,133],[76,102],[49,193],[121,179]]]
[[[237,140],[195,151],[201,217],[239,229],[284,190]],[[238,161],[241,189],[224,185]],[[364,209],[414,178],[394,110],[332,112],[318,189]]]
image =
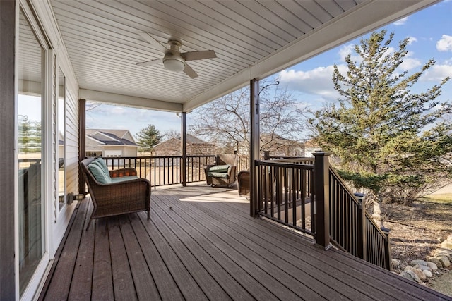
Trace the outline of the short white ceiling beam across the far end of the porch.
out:
[[[81,99],[85,99],[92,102],[119,104],[121,106],[131,106],[133,108],[139,109],[182,112],[182,104],[177,104],[174,102],[162,102],[161,100],[157,99],[148,99],[143,97],[134,97],[87,89],[80,89],[78,94]]]

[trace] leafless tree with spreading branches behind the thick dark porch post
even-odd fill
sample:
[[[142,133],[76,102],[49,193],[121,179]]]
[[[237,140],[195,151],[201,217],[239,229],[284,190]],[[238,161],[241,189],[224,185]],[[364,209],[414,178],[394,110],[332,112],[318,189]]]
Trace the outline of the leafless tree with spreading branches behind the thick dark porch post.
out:
[[[260,97],[261,149],[284,152],[305,129],[304,111],[284,89],[263,90]],[[249,89],[242,88],[196,109],[190,133],[215,142],[228,151],[249,152]]]

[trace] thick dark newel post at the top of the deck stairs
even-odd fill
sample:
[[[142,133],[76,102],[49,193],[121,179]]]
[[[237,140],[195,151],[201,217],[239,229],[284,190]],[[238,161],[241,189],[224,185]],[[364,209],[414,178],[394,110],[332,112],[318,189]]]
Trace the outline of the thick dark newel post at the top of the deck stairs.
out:
[[[314,153],[314,202],[316,207],[316,244],[324,250],[330,243],[330,162],[325,152]]]

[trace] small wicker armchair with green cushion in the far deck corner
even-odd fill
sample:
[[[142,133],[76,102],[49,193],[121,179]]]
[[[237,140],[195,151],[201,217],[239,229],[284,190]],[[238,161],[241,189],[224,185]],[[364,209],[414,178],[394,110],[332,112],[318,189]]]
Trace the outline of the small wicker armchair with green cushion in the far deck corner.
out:
[[[218,154],[215,164],[204,167],[207,185],[231,187],[237,179],[236,166],[239,162],[237,154]]]

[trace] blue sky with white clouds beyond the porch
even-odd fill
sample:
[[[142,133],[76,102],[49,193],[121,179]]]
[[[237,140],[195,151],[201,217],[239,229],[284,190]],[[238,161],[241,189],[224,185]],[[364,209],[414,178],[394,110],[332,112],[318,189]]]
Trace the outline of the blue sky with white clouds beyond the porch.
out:
[[[447,76],[452,78],[452,0],[442,1],[381,27],[379,30],[381,29],[387,30],[388,34],[394,32],[393,47],[398,47],[398,42],[402,39],[410,38],[410,44],[407,47],[408,56],[403,62],[403,68],[408,70],[408,74],[420,70],[420,67],[429,59],[436,61],[435,66],[417,82],[413,92],[425,91]],[[364,37],[368,36],[364,35]],[[270,79],[280,78],[280,87],[287,87],[293,97],[299,101],[300,106],[311,109],[320,108],[322,104],[333,102],[338,98],[331,80],[333,65],[338,65],[339,70],[343,70],[345,74],[347,70],[345,56],[349,53],[354,54],[353,47],[359,44],[360,39],[352,40],[292,68],[287,68]],[[439,100],[446,99],[452,100],[452,80],[446,84],[439,98]],[[130,116],[134,116],[132,123]],[[187,123],[191,123],[190,114],[187,115]],[[107,104],[89,111],[86,118],[87,128],[128,129],[133,135],[148,124],[155,125],[160,133],[165,133],[167,130],[179,131],[181,127],[176,113]]]

